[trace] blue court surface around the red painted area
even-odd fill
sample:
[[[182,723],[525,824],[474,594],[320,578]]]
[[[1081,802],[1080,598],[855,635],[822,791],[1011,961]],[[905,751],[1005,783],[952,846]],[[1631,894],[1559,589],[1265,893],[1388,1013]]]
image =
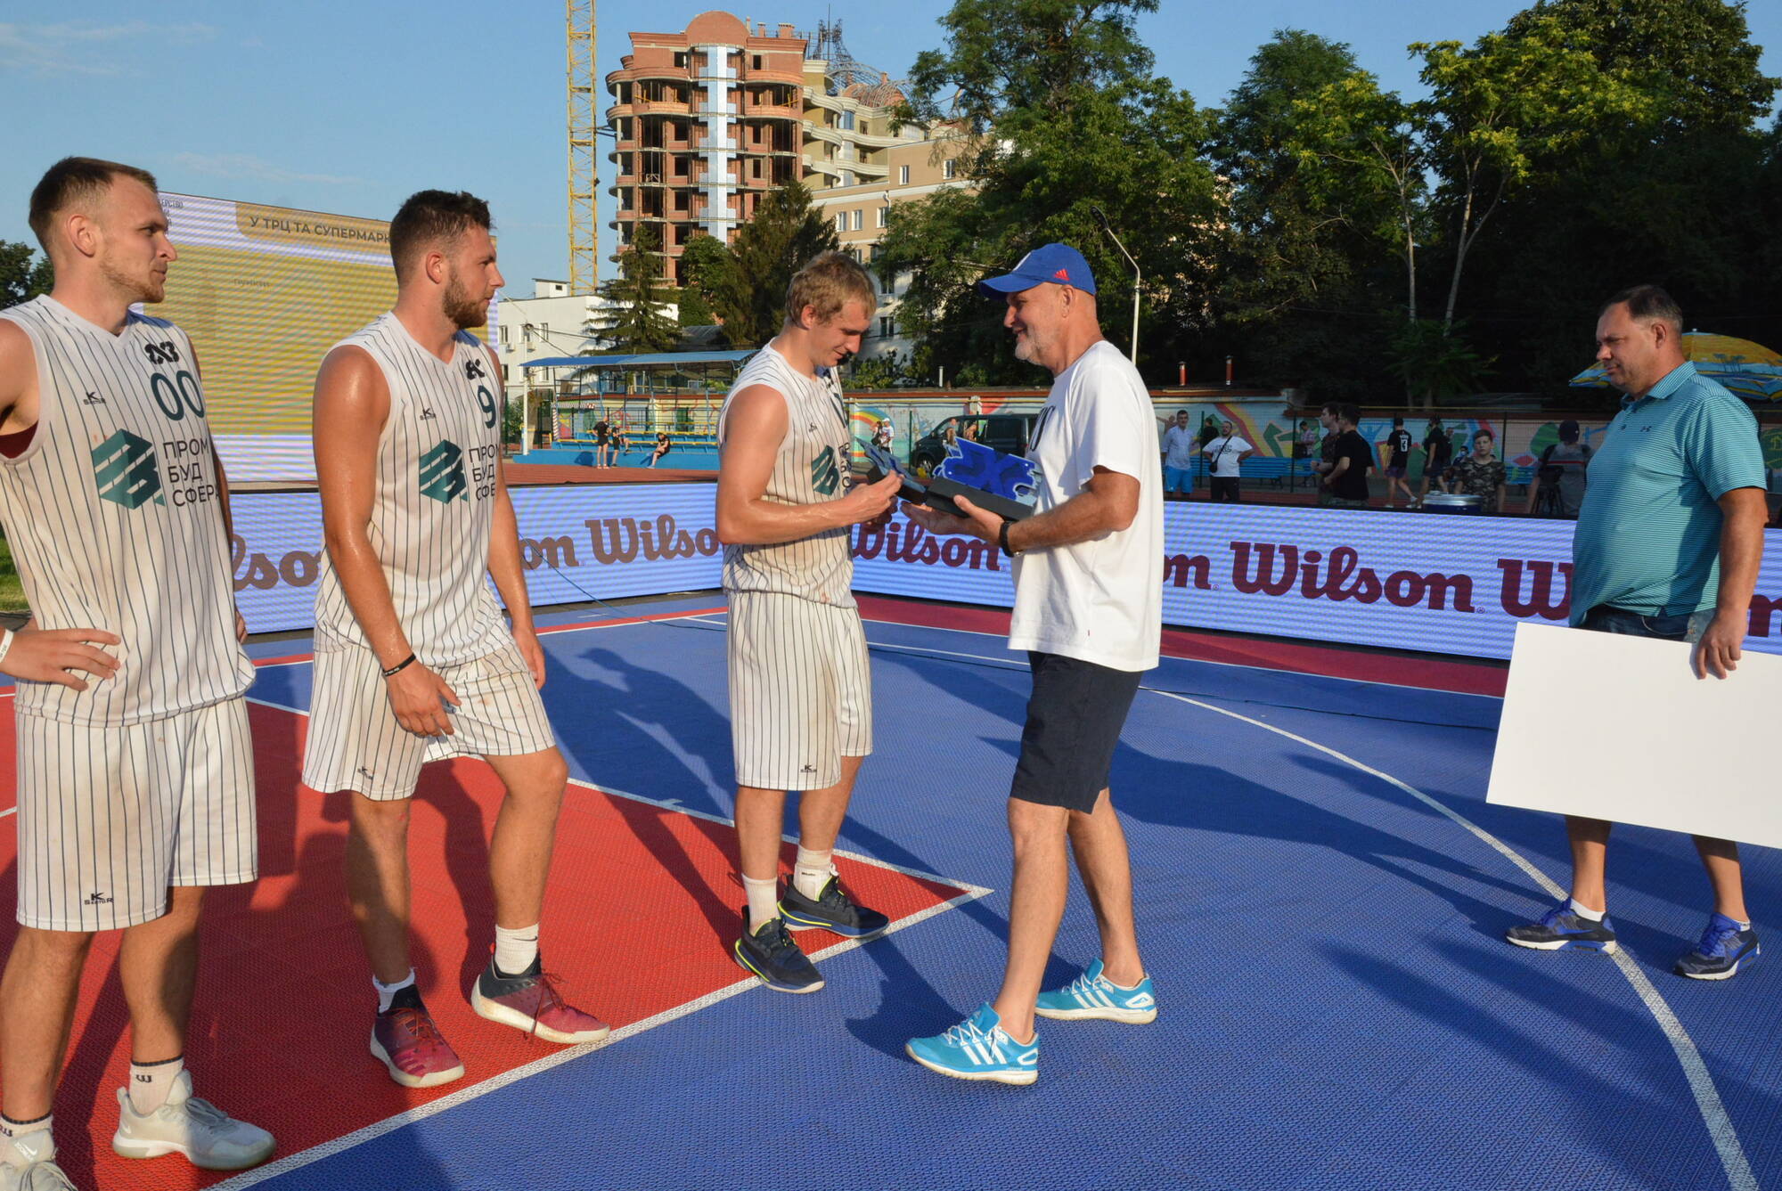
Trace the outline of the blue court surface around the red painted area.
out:
[[[577,779],[729,817],[715,604],[558,617],[672,617],[544,637]],[[1611,852],[1622,956],[1506,945],[1568,868],[1556,818],[1484,804],[1499,702],[1481,695],[1165,660],[1114,763],[1157,1022],[1041,1022],[1032,1088],[916,1066],[903,1043],[1000,979],[1028,678],[996,637],[868,637],[877,747],[841,847],[985,895],[829,957],[816,995],[707,998],[219,1186],[1782,1186],[1782,961],[1672,975],[1707,884],[1686,838],[1631,827]],[[305,710],[308,665],[264,669],[253,697]],[[1748,849],[1746,874],[1759,931],[1782,925],[1777,852]],[[601,904],[602,874],[568,879]],[[711,949],[731,938],[711,927]],[[631,947],[615,972],[650,965],[649,922]],[[1075,886],[1050,981],[1094,957]],[[579,979],[597,1009],[601,973]]]

